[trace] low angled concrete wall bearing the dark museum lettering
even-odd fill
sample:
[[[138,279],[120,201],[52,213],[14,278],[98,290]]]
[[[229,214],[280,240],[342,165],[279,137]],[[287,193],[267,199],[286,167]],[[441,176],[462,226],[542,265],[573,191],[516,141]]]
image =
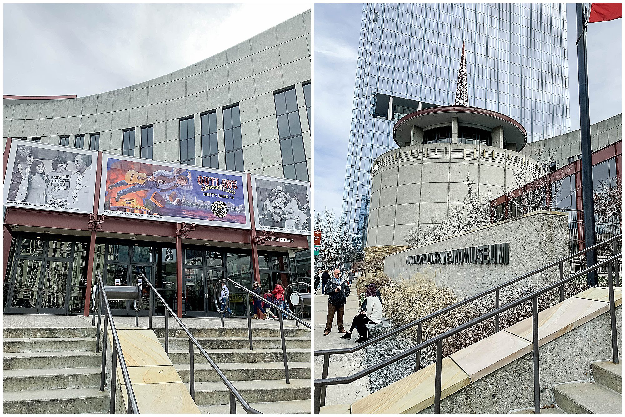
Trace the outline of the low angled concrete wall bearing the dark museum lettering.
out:
[[[389,255],[384,258],[384,274],[396,280],[400,274],[409,278],[425,269],[440,269],[436,284],[464,299],[568,254],[567,214],[537,211]],[[568,264],[564,274],[570,274]],[[558,277],[554,267],[518,285],[554,282]]]

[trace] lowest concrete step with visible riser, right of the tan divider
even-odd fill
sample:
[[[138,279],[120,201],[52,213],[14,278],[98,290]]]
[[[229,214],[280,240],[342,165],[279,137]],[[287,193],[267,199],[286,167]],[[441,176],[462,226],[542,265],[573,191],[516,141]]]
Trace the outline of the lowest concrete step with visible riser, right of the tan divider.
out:
[[[280,379],[263,381],[232,381],[247,403],[269,403],[273,401],[296,401],[311,398],[310,379],[291,379],[291,383]],[[187,388],[189,384],[186,384]],[[199,407],[229,404],[229,391],[222,383],[205,382],[195,384],[195,400]],[[237,407],[238,408],[238,407]]]

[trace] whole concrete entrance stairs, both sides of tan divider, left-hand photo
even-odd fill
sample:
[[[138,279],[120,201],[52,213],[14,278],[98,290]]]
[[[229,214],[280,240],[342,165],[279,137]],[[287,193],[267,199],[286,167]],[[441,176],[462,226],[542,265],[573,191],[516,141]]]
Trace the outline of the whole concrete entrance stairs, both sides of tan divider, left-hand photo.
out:
[[[154,329],[164,345],[164,329]],[[211,359],[262,413],[310,413],[310,331],[285,329],[291,383],[284,380],[279,329],[191,329]],[[99,391],[101,353],[94,328],[6,328],[4,413],[107,413]],[[189,339],[169,329],[169,358],[189,386]],[[229,413],[229,392],[195,349],[196,404],[202,413]],[[244,412],[237,403],[237,412]]]

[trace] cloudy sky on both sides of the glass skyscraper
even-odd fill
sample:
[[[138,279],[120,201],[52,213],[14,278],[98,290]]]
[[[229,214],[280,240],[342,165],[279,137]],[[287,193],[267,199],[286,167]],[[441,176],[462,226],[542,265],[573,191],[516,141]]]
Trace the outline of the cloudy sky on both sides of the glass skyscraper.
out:
[[[567,4],[571,130],[579,129],[576,17]],[[341,215],[356,82],[362,4],[316,4],[314,10],[315,210]],[[621,113],[622,19],[587,32],[591,123]]]

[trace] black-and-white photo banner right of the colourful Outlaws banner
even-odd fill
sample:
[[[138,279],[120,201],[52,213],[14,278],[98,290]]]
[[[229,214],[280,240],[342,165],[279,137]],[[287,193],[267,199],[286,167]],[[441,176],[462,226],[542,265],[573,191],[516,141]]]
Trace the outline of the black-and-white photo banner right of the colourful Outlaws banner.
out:
[[[309,182],[251,175],[257,230],[310,235]]]

